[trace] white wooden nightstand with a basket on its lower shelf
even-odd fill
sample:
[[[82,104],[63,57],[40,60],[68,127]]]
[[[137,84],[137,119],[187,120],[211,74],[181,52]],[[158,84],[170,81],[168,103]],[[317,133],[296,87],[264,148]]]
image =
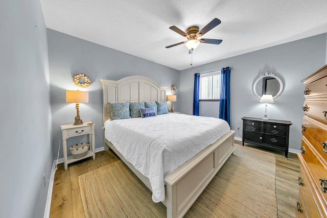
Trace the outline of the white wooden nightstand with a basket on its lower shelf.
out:
[[[91,123],[91,124],[89,124]],[[94,136],[94,123],[92,122],[84,122],[82,125],[73,125],[73,124],[66,124],[61,125],[61,134],[62,134],[62,150],[63,150],[63,159],[64,159],[64,167],[65,169],[68,168],[69,163],[73,163],[78,160],[82,160],[84,158],[88,158],[93,156],[93,159],[96,159],[95,153],[95,136]],[[74,158],[73,155],[69,155],[67,157],[67,138],[86,135],[88,134],[88,139],[90,142],[90,147],[87,152],[87,155],[82,158]]]

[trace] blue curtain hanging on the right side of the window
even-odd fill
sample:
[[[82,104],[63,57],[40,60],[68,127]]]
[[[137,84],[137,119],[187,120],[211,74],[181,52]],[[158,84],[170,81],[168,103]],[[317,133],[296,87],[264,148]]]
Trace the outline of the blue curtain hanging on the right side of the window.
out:
[[[221,69],[221,92],[219,118],[226,120],[230,126],[230,67]]]

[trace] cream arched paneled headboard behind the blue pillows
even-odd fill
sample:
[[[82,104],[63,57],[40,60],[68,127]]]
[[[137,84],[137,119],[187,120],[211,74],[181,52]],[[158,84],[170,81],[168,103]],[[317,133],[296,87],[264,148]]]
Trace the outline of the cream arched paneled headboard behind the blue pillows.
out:
[[[103,80],[103,122],[110,119],[109,103],[117,102],[166,102],[167,87],[143,76],[130,76],[118,81]]]

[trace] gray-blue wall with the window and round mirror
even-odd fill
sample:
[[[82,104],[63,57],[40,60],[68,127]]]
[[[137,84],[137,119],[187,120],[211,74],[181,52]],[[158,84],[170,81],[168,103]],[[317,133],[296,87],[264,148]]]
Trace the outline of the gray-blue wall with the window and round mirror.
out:
[[[194,60],[196,64],[196,60]],[[254,95],[252,86],[254,81],[264,72],[273,72],[282,79],[284,90],[274,104],[267,108],[271,119],[290,120],[290,149],[299,150],[301,142],[302,106],[305,100],[303,90],[305,86],[300,82],[323,66],[326,62],[326,34],[321,34],[267,49],[227,58],[204,64],[198,67],[180,71],[180,111],[192,114],[193,84],[195,73],[208,72],[231,66],[230,78],[230,117],[231,129],[237,131],[241,126],[242,117],[263,117],[265,104],[259,103]],[[219,104],[206,103],[200,105],[202,115],[219,114]],[[202,109],[201,109],[202,107]],[[205,108],[204,108],[205,107]],[[201,114],[200,114],[201,115]]]

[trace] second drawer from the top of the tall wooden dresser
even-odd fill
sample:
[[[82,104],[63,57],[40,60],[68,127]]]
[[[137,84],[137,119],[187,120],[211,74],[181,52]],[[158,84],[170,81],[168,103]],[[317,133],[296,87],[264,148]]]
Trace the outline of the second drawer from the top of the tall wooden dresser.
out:
[[[327,99],[321,101],[305,101],[302,111],[327,124]]]

